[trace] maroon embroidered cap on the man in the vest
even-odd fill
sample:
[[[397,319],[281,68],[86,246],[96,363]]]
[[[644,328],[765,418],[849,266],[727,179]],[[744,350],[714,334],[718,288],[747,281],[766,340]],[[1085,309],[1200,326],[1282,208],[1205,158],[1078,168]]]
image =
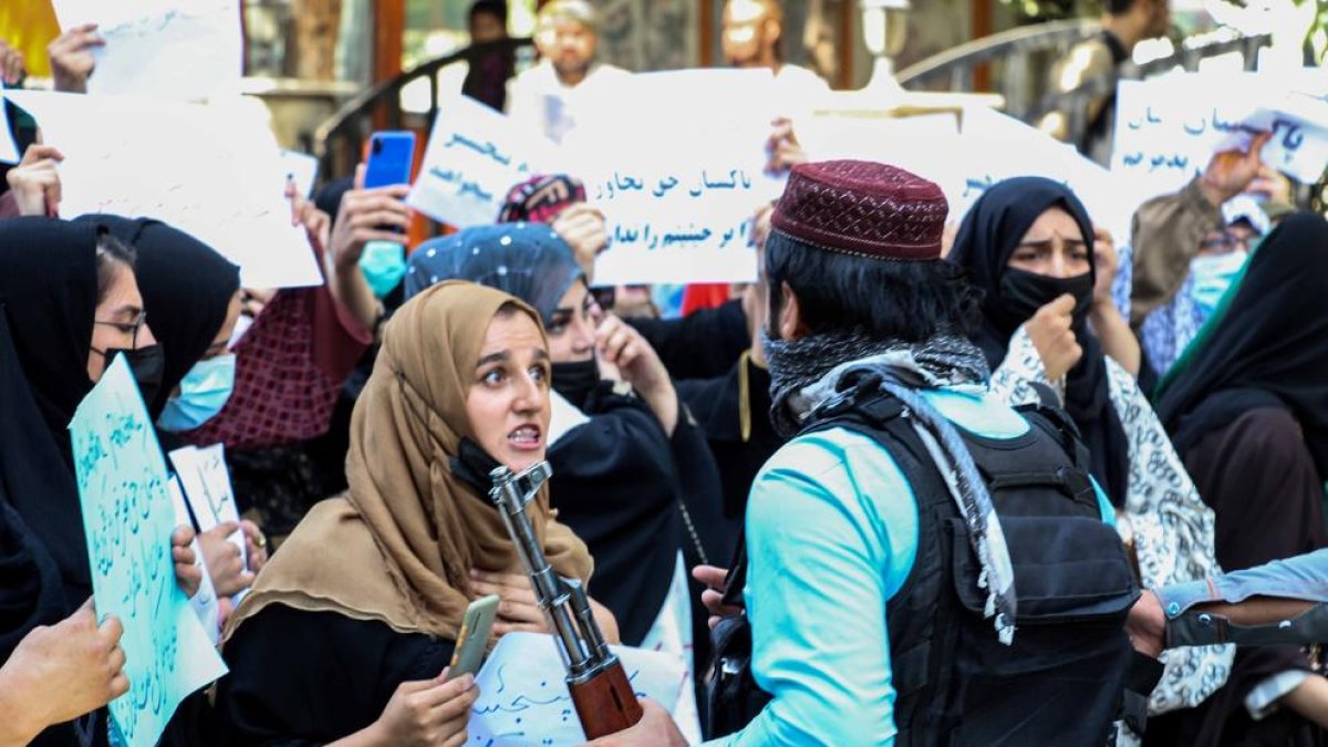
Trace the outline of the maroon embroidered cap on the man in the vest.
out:
[[[939,259],[946,195],[918,174],[871,161],[794,166],[770,225],[818,249],[870,259]]]

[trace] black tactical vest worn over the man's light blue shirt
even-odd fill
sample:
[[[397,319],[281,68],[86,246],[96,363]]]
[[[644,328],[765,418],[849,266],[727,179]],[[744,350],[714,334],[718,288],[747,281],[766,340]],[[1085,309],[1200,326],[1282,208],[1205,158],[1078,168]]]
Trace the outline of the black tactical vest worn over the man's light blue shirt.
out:
[[[956,427],[1015,566],[1012,646],[997,641],[983,615],[987,591],[977,586],[967,526],[907,408],[865,381],[813,413],[803,429],[870,436],[898,463],[918,502],[916,558],[886,606],[899,747],[1100,747],[1122,715],[1134,658],[1123,627],[1138,598],[1133,570],[1116,530],[1102,522],[1073,423],[1054,409],[1017,409],[1031,428],[1016,439]],[[733,581],[741,589],[744,580]],[[710,738],[737,731],[769,699],[750,679],[745,617],[716,629],[716,651]]]

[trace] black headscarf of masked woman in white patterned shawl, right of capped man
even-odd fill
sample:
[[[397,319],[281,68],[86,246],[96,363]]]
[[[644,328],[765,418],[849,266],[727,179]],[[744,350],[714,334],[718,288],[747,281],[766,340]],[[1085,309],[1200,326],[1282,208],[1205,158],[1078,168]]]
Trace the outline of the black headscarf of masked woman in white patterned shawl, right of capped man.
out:
[[[1009,339],[1028,322],[1027,308],[1001,292],[1001,279],[1024,234],[1038,215],[1052,207],[1069,213],[1093,245],[1093,222],[1088,210],[1064,185],[1042,177],[1016,177],[987,189],[964,217],[948,259],[969,271],[973,284],[984,291],[983,326],[973,342],[995,371],[1005,360]],[[1093,476],[1116,505],[1125,504],[1129,486],[1129,444],[1121,420],[1112,407],[1106,359],[1097,335],[1088,327],[1089,300],[1097,272],[1089,265],[1088,296],[1074,307],[1072,330],[1084,350],[1078,364],[1065,377],[1065,411],[1078,425],[1092,457]],[[1048,284],[1064,283],[1046,280]],[[1049,292],[1054,299],[1054,292]]]

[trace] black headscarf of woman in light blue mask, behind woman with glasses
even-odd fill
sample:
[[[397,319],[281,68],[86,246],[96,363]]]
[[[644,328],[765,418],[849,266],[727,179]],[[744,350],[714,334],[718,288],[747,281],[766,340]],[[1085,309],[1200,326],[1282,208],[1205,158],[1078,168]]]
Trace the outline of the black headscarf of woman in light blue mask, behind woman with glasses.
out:
[[[206,243],[159,221],[84,215],[76,222],[105,226],[138,250],[134,266],[138,291],[153,336],[166,356],[161,389],[155,401],[147,403],[155,420],[226,323],[231,298],[240,287],[240,268]]]

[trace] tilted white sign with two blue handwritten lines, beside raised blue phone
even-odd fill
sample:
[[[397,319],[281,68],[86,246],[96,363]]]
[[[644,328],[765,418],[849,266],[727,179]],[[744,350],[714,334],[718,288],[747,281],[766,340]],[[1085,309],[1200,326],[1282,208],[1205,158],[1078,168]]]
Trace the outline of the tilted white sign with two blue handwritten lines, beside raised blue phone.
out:
[[[442,100],[406,203],[458,227],[495,223],[507,191],[542,173],[554,149],[469,97]]]

